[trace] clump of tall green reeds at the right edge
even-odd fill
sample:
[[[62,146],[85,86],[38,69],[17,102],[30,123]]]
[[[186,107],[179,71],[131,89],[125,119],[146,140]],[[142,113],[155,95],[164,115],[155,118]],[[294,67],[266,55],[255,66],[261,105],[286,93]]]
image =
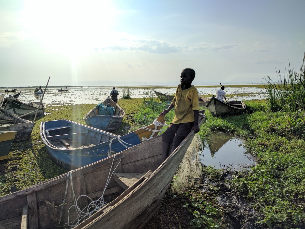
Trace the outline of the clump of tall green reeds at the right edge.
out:
[[[281,72],[277,72],[278,81],[272,80],[269,76],[265,77],[267,83],[263,82],[264,95],[271,111],[284,110],[287,113],[305,109],[305,52],[300,71],[289,69],[284,72],[282,79]]]

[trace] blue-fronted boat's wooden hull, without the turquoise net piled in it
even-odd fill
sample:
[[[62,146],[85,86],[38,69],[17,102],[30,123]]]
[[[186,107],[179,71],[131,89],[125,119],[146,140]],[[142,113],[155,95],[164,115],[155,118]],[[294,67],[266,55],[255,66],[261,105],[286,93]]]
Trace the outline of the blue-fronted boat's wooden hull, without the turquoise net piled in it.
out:
[[[102,102],[106,105],[106,100]],[[98,107],[94,107],[91,111],[84,116],[83,120],[88,126],[94,127],[100,130],[116,130],[119,129],[123,118],[125,116],[125,111],[113,100],[110,100],[110,106],[115,107],[114,115],[99,115]]]

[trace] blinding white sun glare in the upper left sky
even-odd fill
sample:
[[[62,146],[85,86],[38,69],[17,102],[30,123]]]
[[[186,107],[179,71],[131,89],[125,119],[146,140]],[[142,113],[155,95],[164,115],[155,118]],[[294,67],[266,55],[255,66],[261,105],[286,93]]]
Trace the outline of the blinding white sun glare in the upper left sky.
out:
[[[108,0],[30,0],[21,23],[48,51],[74,56],[111,42],[117,14]]]

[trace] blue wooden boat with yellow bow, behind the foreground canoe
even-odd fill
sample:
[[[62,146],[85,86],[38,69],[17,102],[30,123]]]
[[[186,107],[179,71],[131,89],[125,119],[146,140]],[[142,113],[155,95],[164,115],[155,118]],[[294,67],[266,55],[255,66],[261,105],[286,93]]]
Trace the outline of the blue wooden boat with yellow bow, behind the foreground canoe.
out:
[[[157,121],[164,123],[164,116]],[[102,160],[158,135],[154,124],[117,136],[70,120],[41,122],[40,136],[52,160],[65,169],[76,169]]]

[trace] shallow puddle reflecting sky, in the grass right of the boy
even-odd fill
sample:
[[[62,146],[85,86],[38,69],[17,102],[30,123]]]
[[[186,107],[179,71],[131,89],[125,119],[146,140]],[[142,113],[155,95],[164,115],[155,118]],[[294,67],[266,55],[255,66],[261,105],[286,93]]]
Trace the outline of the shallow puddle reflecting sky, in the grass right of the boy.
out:
[[[230,167],[232,170],[249,169],[255,165],[253,156],[247,154],[241,139],[230,134],[215,133],[205,142],[200,162],[215,169]]]

